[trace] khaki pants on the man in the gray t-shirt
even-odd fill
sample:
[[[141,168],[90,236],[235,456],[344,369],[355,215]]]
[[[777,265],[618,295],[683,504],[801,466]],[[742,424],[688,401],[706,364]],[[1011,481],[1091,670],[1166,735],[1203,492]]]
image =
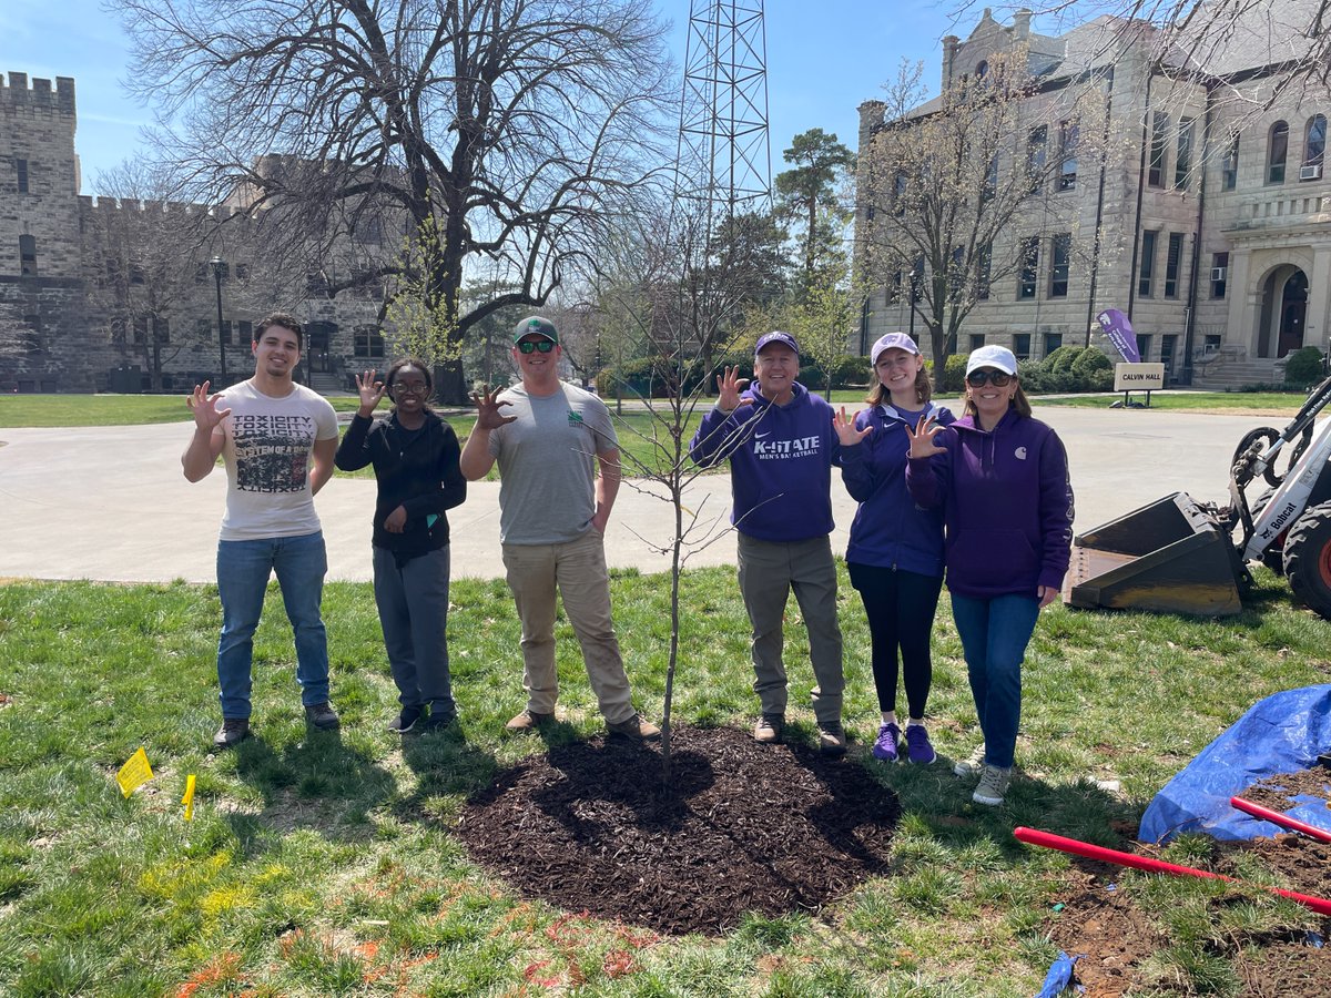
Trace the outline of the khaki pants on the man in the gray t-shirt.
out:
[[[578,635],[587,679],[610,724],[634,716],[628,676],[610,616],[610,572],[604,538],[588,530],[566,544],[504,544],[503,564],[522,621],[522,685],[527,709],[554,713],[559,697],[555,669],[555,589]]]

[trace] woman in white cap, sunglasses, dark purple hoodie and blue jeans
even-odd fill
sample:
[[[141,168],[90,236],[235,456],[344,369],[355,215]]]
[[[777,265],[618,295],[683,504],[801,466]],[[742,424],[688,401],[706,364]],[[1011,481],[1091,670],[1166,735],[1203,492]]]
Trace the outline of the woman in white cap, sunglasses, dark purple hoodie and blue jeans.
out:
[[[1067,572],[1067,452],[1032,419],[1017,358],[1001,346],[966,359],[965,415],[946,430],[922,416],[909,438],[906,487],[944,511],[952,616],[985,736],[957,774],[980,773],[972,800],[997,806],[1012,780],[1026,644]]]

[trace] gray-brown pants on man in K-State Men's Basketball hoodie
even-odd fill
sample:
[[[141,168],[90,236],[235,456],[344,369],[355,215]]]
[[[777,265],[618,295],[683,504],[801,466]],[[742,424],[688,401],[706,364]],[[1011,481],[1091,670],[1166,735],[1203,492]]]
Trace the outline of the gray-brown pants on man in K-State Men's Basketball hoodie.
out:
[[[788,699],[781,624],[791,589],[809,632],[812,691],[819,727],[841,724],[841,627],[836,617],[836,563],[823,538],[781,543],[739,535],[740,592],[753,625],[753,692],[765,715],[784,715]]]

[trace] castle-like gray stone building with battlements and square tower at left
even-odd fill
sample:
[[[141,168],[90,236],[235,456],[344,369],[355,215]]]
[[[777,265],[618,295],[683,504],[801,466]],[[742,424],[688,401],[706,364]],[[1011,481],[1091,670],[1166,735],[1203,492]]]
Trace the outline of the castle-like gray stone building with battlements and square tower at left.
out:
[[[274,259],[244,198],[210,209],[81,197],[76,126],[72,79],[0,79],[0,390],[234,381],[253,369],[253,322],[274,307],[306,323],[299,374],[315,387],[346,387],[381,362],[383,289],[329,287],[395,254],[401,225],[371,220],[335,234],[331,251]]]

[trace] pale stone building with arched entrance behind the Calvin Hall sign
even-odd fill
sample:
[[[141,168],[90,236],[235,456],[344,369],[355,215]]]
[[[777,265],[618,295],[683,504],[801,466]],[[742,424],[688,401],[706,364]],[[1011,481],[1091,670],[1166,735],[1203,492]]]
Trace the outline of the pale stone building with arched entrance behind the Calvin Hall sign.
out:
[[[1004,25],[986,9],[966,40],[944,40],[944,90],[984,77],[996,53],[1021,47],[1032,122],[1073,88],[1094,93],[1107,118],[1106,165],[1093,172],[1083,160],[1078,176],[1073,160],[1071,181],[1046,184],[1008,225],[1009,245],[1030,246],[1029,266],[985,289],[957,350],[989,342],[1041,358],[1065,343],[1103,345],[1094,315],[1106,307],[1129,315],[1142,359],[1163,361],[1181,383],[1278,382],[1291,350],[1327,350],[1331,94],[1304,80],[1288,85],[1316,4],[1259,8],[1260,23],[1235,25],[1221,41],[1175,45],[1166,57],[1155,52],[1157,33],[1141,23],[1103,17],[1044,36],[1024,11]],[[941,113],[940,106],[932,101],[908,117]],[[861,161],[881,129],[900,125],[884,114],[880,101],[860,106]],[[1044,130],[1040,138],[1044,156]],[[1020,129],[1006,168],[1020,169],[1034,141]],[[1053,133],[1047,141],[1049,154],[1057,154]],[[861,258],[886,197],[864,176],[861,166],[856,263],[873,290],[857,335],[861,349],[914,325],[894,275],[869,273]],[[1087,253],[1069,254],[1073,242],[1094,244],[1094,233],[1093,263]]]

